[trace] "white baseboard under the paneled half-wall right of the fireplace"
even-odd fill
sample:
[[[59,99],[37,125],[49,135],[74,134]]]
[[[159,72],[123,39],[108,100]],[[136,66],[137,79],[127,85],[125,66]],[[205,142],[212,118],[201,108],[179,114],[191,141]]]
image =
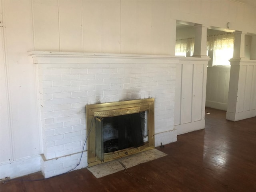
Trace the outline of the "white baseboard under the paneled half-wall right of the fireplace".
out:
[[[184,133],[204,129],[204,126],[205,126],[205,120],[200,120],[200,121],[190,122],[186,124],[175,125],[174,129],[177,130],[178,135],[181,135]]]

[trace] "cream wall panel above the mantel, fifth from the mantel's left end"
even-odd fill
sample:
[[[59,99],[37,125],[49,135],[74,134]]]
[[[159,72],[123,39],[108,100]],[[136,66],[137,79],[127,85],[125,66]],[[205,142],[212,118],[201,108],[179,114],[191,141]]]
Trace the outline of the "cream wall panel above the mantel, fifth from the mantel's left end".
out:
[[[121,53],[138,53],[138,1],[121,1]]]

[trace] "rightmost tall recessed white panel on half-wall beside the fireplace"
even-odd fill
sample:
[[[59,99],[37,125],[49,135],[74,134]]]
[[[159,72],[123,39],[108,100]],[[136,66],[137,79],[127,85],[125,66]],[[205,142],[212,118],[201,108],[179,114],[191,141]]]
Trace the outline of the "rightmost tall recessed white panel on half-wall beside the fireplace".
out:
[[[193,94],[192,94],[192,121],[202,120],[204,65],[194,64],[193,69]]]

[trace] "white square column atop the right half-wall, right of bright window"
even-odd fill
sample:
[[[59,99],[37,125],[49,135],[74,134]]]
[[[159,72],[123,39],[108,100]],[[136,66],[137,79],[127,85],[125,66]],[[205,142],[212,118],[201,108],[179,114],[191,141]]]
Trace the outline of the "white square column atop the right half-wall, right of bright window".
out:
[[[235,41],[234,41],[234,52],[233,58],[244,58],[244,37],[245,32],[234,32]]]

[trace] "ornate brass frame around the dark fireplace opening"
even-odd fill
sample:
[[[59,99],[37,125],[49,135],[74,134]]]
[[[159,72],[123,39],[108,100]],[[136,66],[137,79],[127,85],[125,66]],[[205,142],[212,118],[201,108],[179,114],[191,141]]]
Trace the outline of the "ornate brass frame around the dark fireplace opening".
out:
[[[88,166],[102,163],[96,156],[96,123],[93,122],[96,117],[119,116],[144,111],[148,112],[148,141],[144,142],[144,145],[138,148],[127,148],[111,153],[104,153],[104,162],[154,148],[154,98],[86,105]]]

